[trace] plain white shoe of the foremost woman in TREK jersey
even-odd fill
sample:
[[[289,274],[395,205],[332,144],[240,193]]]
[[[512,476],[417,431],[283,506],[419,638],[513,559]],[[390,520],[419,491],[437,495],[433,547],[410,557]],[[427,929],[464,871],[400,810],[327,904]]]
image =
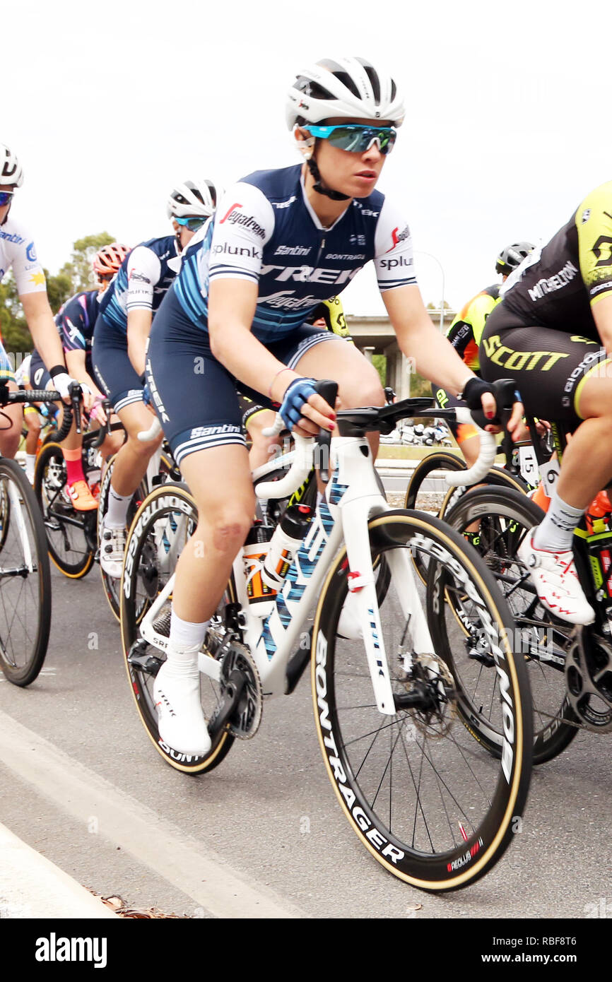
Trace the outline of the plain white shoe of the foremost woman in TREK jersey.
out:
[[[159,736],[179,753],[201,757],[211,746],[199,699],[197,665],[164,662],[153,685]]]

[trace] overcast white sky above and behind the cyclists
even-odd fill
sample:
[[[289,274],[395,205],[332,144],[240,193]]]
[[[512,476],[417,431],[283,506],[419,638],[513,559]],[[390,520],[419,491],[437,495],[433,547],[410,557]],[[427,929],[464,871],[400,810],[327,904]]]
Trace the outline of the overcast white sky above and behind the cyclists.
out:
[[[2,20],[0,141],[51,272],[85,235],[168,234],[176,180],[298,162],[285,91],[322,57],[384,63],[405,87],[378,189],[404,209],[425,302],[442,277],[423,253],[460,306],[496,281],[500,248],[546,242],[612,179],[611,0],[33,0]],[[384,312],[371,268],[343,300]]]

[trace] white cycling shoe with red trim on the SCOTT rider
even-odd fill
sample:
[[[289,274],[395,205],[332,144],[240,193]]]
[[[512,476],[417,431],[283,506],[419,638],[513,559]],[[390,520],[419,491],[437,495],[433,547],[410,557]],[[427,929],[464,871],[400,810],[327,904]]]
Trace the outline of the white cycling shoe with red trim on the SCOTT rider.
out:
[[[570,624],[592,624],[595,612],[584,596],[571,549],[549,552],[533,545],[531,528],[518,550],[544,607]]]

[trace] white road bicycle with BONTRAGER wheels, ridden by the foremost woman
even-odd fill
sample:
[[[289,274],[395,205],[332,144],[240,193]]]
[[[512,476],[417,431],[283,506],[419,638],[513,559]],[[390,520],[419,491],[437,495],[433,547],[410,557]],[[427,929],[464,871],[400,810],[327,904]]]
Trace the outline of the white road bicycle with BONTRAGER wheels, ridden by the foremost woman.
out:
[[[168,644],[171,567],[197,521],[184,485],[155,488],[134,518],[121,627],[147,734],[172,767],[191,774],[217,766],[235,738],[254,736],[265,698],[290,694],[309,663],[323,759],[354,831],[395,876],[448,891],[484,875],[512,841],[529,790],[532,722],[525,662],[514,656],[512,615],[494,577],[449,526],[390,509],[379,490],[366,432],[424,414],[425,402],[433,412],[429,401],[405,400],[338,413],[325,497],[263,615],[249,596],[252,547],[249,562],[247,547],[237,556],[199,657],[212,740],[204,756],[161,740],[152,694]],[[488,436],[483,457],[495,452]],[[285,458],[259,468],[257,527],[296,489],[302,500],[308,488],[315,497],[314,473],[329,476],[326,449],[322,438],[298,438],[288,473]],[[271,469],[279,479],[264,480]],[[167,528],[172,561],[160,563]],[[426,556],[425,583],[415,554]],[[340,636],[341,616],[353,639]]]

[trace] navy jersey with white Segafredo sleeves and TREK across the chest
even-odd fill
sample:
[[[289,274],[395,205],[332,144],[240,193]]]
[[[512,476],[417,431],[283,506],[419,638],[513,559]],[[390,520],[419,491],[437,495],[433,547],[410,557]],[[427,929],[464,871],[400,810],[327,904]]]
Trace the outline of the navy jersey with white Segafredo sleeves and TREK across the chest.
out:
[[[384,194],[355,198],[325,229],[306,198],[298,164],[257,171],[230,188],[203,242],[188,249],[172,290],[206,331],[213,279],[256,283],[252,333],[266,344],[291,334],[370,259],[381,291],[417,283],[408,224]]]

